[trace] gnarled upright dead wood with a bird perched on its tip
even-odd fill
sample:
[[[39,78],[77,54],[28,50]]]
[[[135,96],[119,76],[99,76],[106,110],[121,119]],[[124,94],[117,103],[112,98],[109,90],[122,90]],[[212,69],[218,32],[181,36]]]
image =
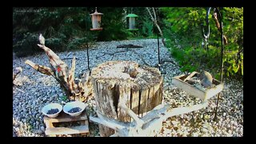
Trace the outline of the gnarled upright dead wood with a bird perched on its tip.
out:
[[[62,87],[62,90],[65,92],[66,96],[73,100],[79,100],[85,102],[90,95],[92,94],[92,85],[90,82],[89,73],[83,74],[83,77],[79,79],[78,84],[74,82],[74,70],[75,70],[75,60],[74,57],[72,60],[72,66],[69,70],[65,62],[63,62],[54,51],[45,46],[45,38],[42,37],[42,34],[39,36],[39,41],[41,44],[38,44],[42,50],[44,50],[49,58],[50,67],[40,66],[26,60],[26,64],[38,70],[42,74],[53,76]]]

